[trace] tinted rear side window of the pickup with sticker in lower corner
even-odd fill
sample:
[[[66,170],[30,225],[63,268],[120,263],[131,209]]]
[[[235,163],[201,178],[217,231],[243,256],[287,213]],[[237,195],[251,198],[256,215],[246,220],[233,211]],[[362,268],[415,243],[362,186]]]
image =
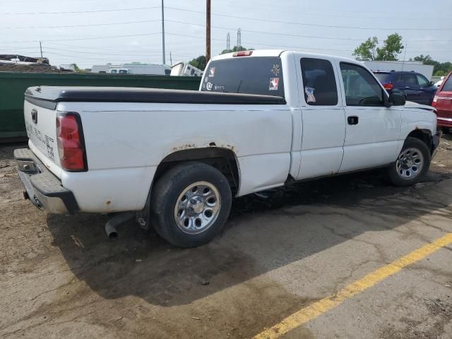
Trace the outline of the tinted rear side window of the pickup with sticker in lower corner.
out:
[[[338,88],[333,65],[324,59],[302,58],[304,100],[308,105],[338,105]]]

